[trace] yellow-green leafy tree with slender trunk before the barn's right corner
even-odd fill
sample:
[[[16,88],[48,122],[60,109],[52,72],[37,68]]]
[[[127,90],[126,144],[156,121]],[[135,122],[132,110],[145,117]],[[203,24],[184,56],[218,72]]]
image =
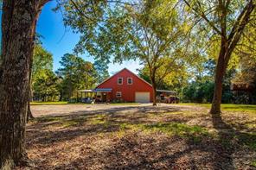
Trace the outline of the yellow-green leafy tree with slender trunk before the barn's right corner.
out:
[[[88,51],[96,59],[109,62],[139,59],[150,71],[150,83],[154,89],[156,105],[157,70],[169,58],[165,71],[183,65],[183,29],[187,28],[177,15],[176,3],[170,1],[138,1],[135,5],[115,4],[106,9],[99,25],[92,27],[85,15],[67,9],[65,21],[80,32],[76,52]],[[82,10],[80,10],[82,11]],[[167,75],[167,73],[163,73]]]

